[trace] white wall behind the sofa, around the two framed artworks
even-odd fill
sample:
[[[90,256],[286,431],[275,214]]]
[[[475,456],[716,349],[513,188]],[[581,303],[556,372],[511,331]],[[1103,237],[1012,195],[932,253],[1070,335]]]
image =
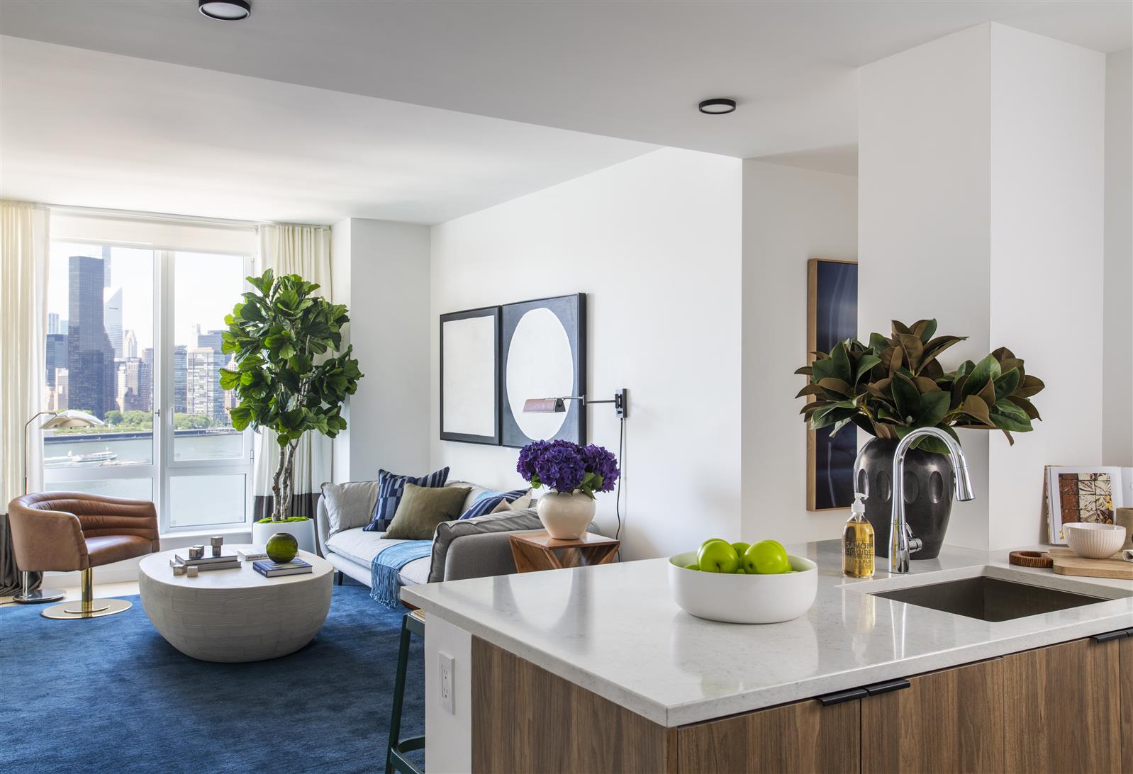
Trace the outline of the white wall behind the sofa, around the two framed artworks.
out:
[[[738,159],[665,148],[434,227],[431,467],[520,483],[517,450],[438,440],[437,316],[581,291],[589,392],[630,391],[624,558],[738,535],[741,178]],[[616,450],[612,408],[588,410]],[[613,534],[612,495],[597,521]]]

